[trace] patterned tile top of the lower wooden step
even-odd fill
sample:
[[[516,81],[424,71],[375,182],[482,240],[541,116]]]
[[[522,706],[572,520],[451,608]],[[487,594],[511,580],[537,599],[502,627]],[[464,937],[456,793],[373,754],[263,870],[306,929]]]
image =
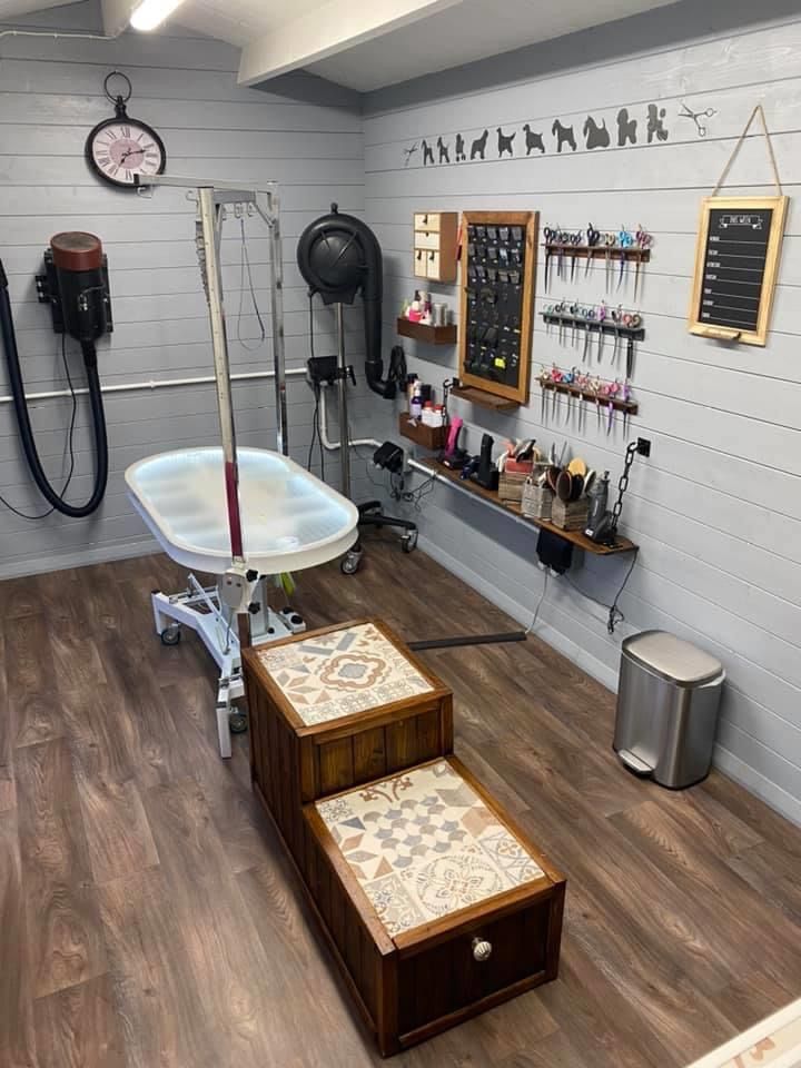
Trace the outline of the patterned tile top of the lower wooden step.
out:
[[[317,810],[390,936],[544,877],[447,761]]]

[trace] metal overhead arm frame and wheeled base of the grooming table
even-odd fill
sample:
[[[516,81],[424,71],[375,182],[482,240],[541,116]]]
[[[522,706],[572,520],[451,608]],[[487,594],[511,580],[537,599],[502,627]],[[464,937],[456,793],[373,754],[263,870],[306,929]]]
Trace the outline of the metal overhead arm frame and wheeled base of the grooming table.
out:
[[[222,458],[225,464],[226,502],[230,534],[231,567],[220,575],[215,586],[201,586],[189,575],[182,593],[152,594],[156,632],[166,645],[180,639],[180,626],[189,626],[199,635],[219,666],[217,691],[217,732],[221,756],[231,755],[230,731],[245,730],[241,714],[231,713],[231,703],[245,694],[240,650],[248,645],[276,641],[306,630],[301,617],[291,610],[274,612],[267,604],[267,577],[247,566],[243,550],[239,507],[239,471],[237,463],[234,406],[231,400],[228,339],[222,304],[220,238],[226,209],[237,217],[258,215],[270,233],[270,298],[273,313],[273,362],[278,452],[289,455],[287,433],[286,373],[284,356],[284,265],[279,225],[279,201],[275,182],[264,189],[209,181],[200,178],[141,176],[140,192],[151,186],[175,186],[192,190],[197,197],[196,221],[200,274],[206,289],[211,325],[211,345],[219,412]],[[236,620],[234,619],[236,616]]]

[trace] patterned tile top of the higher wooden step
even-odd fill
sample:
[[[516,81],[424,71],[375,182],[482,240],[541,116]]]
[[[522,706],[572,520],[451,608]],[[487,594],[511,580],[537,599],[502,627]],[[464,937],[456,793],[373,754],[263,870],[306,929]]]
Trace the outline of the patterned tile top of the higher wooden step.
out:
[[[433,689],[372,623],[269,646],[259,660],[307,725]]]

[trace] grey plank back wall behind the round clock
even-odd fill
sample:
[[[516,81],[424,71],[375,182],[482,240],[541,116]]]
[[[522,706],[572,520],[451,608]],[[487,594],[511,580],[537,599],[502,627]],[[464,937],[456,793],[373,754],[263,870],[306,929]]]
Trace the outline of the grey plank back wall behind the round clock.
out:
[[[29,26],[97,32],[93,4],[80,3],[31,17]],[[3,24],[0,23],[0,29]],[[109,257],[115,333],[102,340],[103,384],[184,378],[211,373],[208,316],[200,287],[194,239],[194,207],[180,190],[159,190],[148,200],[115,191],[89,172],[83,144],[96,122],[112,115],[102,81],[112,69],[134,83],[132,116],[156,127],[167,146],[168,170],[281,185],[285,312],[289,366],[308,356],[308,305],[295,263],[297,237],[338,200],[343,210],[363,210],[362,121],[344,107],[320,107],[290,96],[241,89],[236,83],[238,51],[191,37],[126,33],[118,41],[36,38],[0,40],[0,257],[10,275],[10,293],[26,384],[30,392],[65,385],[59,342],[49,313],[36,301],[33,276],[52,234],[87,229],[103,241]],[[222,244],[231,366],[235,372],[268,369],[269,344],[255,350],[257,324],[246,295],[240,301],[238,225],[226,224]],[[257,299],[268,327],[268,243],[266,230],[247,222]],[[317,352],[332,352],[332,313],[317,308]],[[352,352],[363,352],[358,316],[349,318]],[[244,342],[240,342],[243,338]],[[81,359],[71,366],[81,378]],[[360,360],[355,359],[358,366]],[[305,462],[312,434],[310,393],[304,382],[289,387],[290,443]],[[4,362],[0,395],[8,394]],[[364,386],[360,387],[364,392]],[[240,444],[275,447],[273,384],[235,388]],[[333,405],[336,408],[336,405]],[[355,421],[363,433],[367,417]],[[46,467],[59,484],[67,400],[38,402],[32,418]],[[0,575],[131,554],[149,546],[141,520],[125,492],[122,473],[141,456],[218,439],[214,390],[184,386],[106,398],[110,478],[96,515],[76,521],[53,515],[38,523],[0,506]],[[76,435],[77,476],[70,500],[86,500],[91,486],[89,413],[85,403]],[[333,434],[336,433],[334,423]],[[336,457],[327,473],[336,483]],[[355,475],[364,475],[356,461]],[[363,482],[357,477],[357,488]],[[366,492],[366,491],[365,491]],[[0,404],[0,493],[28,512],[41,512],[17,441],[9,404]]]

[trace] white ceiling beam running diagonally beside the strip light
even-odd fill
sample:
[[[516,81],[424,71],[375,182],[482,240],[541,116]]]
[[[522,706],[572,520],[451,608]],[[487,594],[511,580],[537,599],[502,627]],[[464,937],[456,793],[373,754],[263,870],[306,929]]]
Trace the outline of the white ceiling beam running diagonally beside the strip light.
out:
[[[103,6],[119,0],[103,0]],[[462,0],[330,0],[277,26],[243,49],[239,85],[253,86],[327,59],[390,30],[427,19]]]

